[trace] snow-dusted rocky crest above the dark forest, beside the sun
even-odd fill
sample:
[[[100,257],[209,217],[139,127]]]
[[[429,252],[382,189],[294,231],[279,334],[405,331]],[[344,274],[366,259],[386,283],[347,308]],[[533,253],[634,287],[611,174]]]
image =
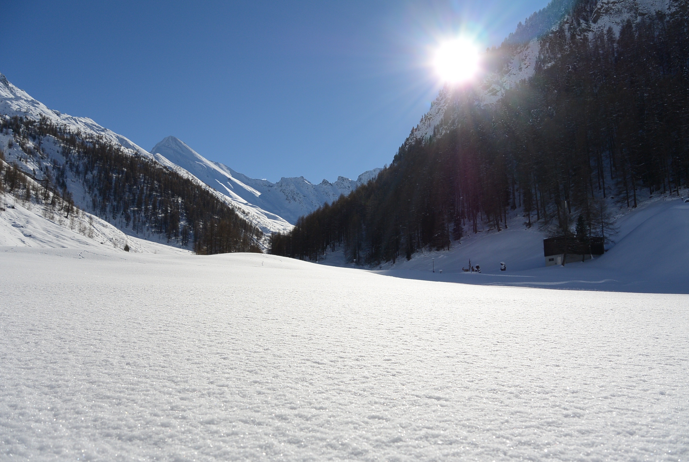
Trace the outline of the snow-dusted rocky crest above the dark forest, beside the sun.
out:
[[[569,27],[570,18],[562,17],[562,13],[567,12],[570,6],[576,3],[571,0],[554,0],[543,10],[534,13],[526,23],[517,28],[517,31],[510,34],[506,39],[506,45],[498,52],[506,53],[500,56],[504,65],[500,66],[497,72],[486,72],[479,77],[479,81],[474,85],[476,103],[478,105],[491,105],[496,103],[505,90],[514,87],[517,83],[527,80],[533,76],[535,64],[541,52],[541,42],[539,35],[542,32],[552,30],[564,23],[565,28]],[[649,17],[655,12],[670,12],[674,8],[670,0],[601,0],[593,12],[590,22],[583,27],[588,28],[590,36],[598,32],[606,32],[612,28],[615,34],[630,19],[636,23],[643,17]],[[582,25],[578,25],[582,27]],[[493,56],[495,59],[495,56]],[[438,97],[431,103],[429,112],[422,116],[416,127],[411,129],[409,138],[404,145],[411,145],[417,140],[427,140],[437,129],[442,133],[444,130],[453,127],[453,101],[455,97],[466,92],[466,88],[453,88],[446,86],[440,90]],[[450,109],[450,110],[448,110]]]

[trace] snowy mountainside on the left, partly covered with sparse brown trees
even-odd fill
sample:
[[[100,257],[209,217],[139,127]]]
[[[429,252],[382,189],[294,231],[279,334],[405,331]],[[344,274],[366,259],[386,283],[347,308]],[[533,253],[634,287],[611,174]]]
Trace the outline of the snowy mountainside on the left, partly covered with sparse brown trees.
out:
[[[227,196],[89,118],[48,109],[1,74],[0,177],[1,196],[72,230],[88,231],[96,216],[197,253],[266,248],[265,234]]]

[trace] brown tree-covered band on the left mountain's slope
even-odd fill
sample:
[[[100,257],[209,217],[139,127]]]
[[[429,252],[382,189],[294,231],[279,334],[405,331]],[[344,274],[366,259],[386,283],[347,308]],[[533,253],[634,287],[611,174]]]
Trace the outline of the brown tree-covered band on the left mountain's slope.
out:
[[[103,219],[123,222],[134,233],[191,244],[197,253],[260,251],[262,233],[212,191],[112,140],[73,132],[46,118],[18,116],[0,118],[0,133],[11,134],[6,147],[21,149],[25,167],[14,163],[0,169],[0,185],[10,193],[34,194],[39,202],[57,199],[69,214],[74,191],[81,188],[90,202],[83,206]],[[59,151],[63,162],[46,148]],[[20,170],[40,182],[41,190],[21,181]]]

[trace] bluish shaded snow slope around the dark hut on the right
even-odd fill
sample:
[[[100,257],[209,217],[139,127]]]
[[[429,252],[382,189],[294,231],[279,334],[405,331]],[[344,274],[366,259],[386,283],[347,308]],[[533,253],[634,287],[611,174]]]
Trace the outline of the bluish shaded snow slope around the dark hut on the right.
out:
[[[378,272],[412,279],[647,293],[689,293],[689,203],[684,198],[647,200],[617,220],[616,243],[604,255],[566,266],[545,266],[537,227],[523,224],[462,239],[450,251],[421,252]],[[523,218],[520,220],[523,221]],[[343,264],[340,254],[331,264]],[[435,261],[433,261],[435,259]],[[482,273],[462,267],[480,265]],[[327,260],[326,260],[327,262]],[[505,262],[507,271],[500,271]],[[433,273],[435,267],[435,273]],[[442,274],[440,273],[442,270]]]

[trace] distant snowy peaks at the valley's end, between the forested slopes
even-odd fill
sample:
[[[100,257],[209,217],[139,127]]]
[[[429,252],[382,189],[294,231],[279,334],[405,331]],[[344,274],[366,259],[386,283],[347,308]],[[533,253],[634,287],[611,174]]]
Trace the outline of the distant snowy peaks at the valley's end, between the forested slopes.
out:
[[[303,176],[282,177],[274,183],[249,178],[227,165],[207,160],[174,136],[162,140],[151,149],[151,152],[156,158],[162,156],[189,171],[206,185],[240,204],[240,207],[245,207],[266,220],[274,220],[276,231],[283,231],[285,220],[294,224],[300,216],[318,209],[325,202],[330,204],[342,194],[347,196],[359,185],[376,178],[382,170],[365,171],[356,180],[339,176],[335,182],[322,180],[318,185],[314,185]],[[289,226],[287,228],[289,229]]]

